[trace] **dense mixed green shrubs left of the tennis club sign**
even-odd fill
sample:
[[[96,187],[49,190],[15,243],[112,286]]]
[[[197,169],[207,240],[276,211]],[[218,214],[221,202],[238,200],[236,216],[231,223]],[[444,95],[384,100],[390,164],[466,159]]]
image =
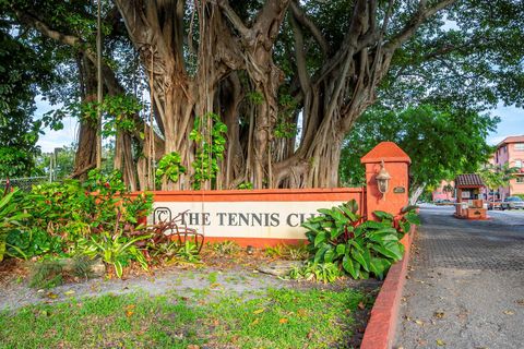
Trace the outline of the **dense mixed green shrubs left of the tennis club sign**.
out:
[[[118,277],[129,261],[147,268],[136,244],[151,236],[138,218],[151,212],[152,195],[131,197],[119,172],[93,170],[84,183],[67,180],[36,185],[20,198],[19,207],[32,215],[9,232],[10,255],[99,256],[115,266]]]

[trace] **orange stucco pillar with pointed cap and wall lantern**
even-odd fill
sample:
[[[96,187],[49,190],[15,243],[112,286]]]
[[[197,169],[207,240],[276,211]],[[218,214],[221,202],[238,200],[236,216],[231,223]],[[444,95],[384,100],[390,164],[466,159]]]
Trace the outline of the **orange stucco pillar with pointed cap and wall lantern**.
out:
[[[385,170],[391,174],[388,192],[382,195],[377,185],[376,176],[379,173],[381,163],[384,161]],[[376,220],[374,210],[384,210],[397,215],[408,204],[409,198],[409,164],[412,160],[403,149],[393,142],[379,143],[360,163],[366,167],[366,216]]]

